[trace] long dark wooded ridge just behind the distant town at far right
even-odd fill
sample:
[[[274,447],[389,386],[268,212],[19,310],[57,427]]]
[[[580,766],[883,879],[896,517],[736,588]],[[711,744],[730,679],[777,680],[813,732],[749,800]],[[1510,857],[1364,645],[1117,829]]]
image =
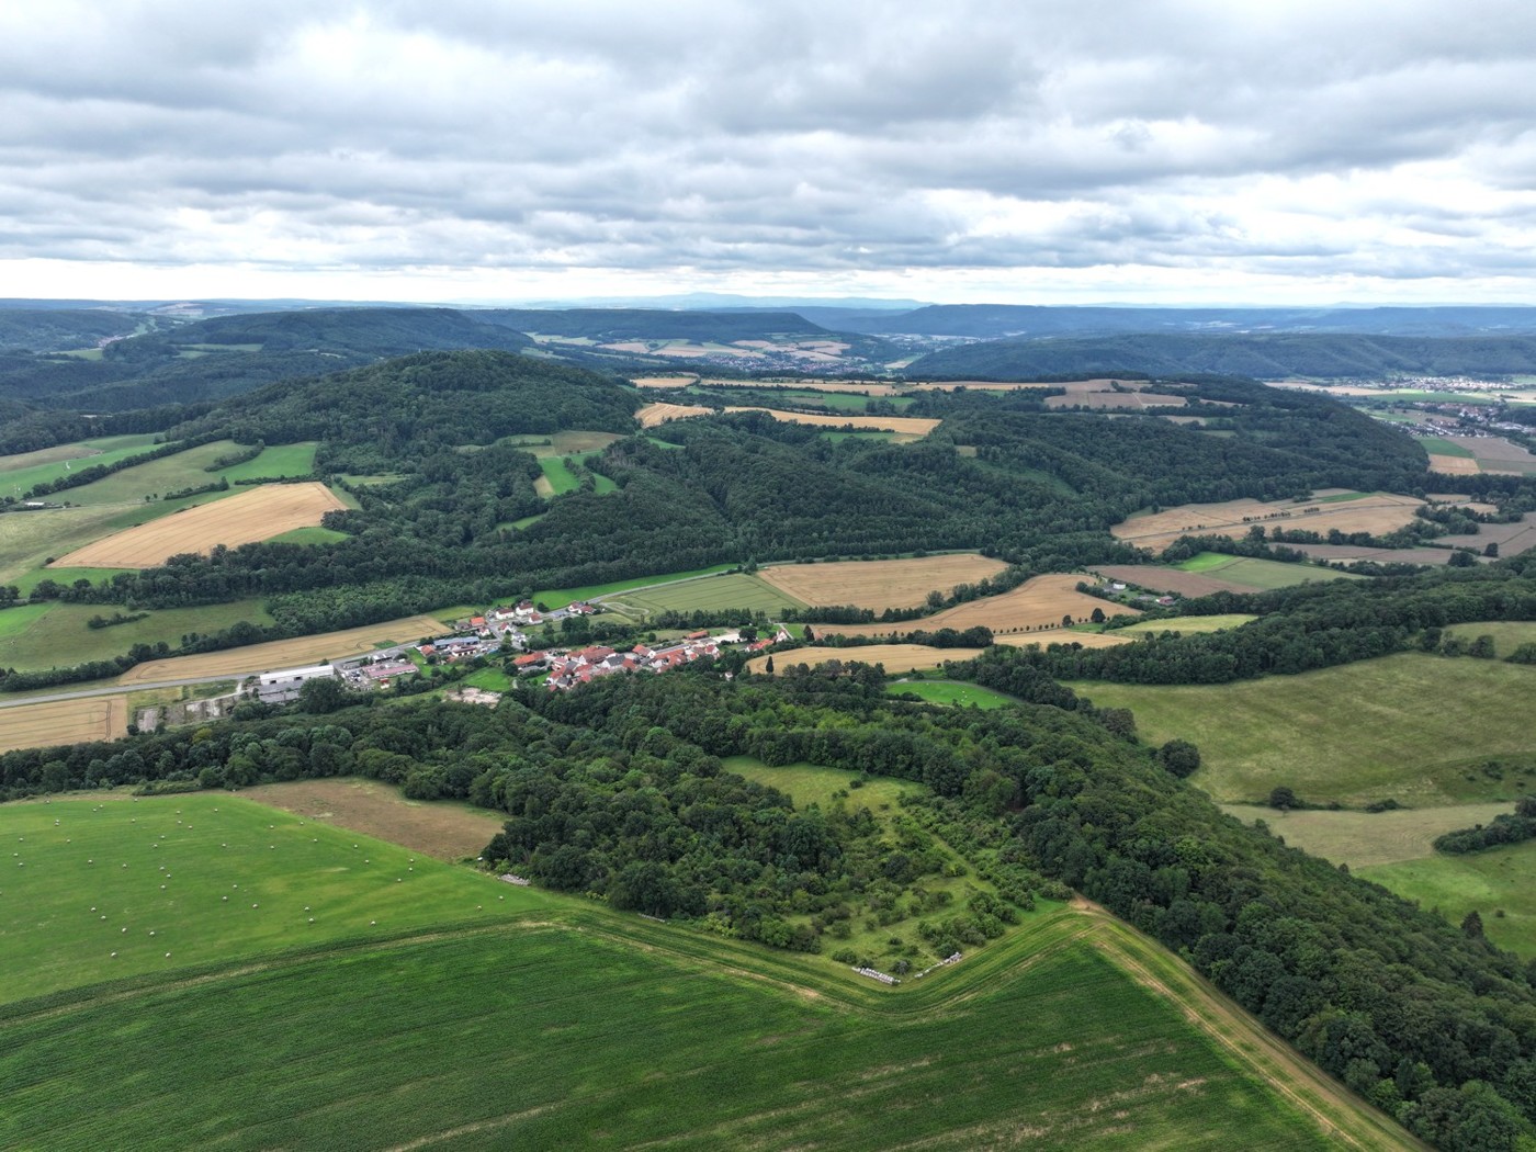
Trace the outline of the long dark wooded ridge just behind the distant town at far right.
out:
[[[1407,375],[1511,375],[1536,362],[1536,336],[1120,335],[1104,338],[992,339],[932,352],[908,372],[923,378],[1063,379],[1117,373],[1221,373],[1370,378]]]

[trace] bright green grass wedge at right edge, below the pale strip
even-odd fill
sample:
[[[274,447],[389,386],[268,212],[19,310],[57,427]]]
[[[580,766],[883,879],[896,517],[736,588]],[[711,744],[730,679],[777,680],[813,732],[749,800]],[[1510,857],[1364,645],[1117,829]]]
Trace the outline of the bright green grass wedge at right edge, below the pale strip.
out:
[[[1502,805],[1502,811],[1510,806]],[[1465,820],[1458,828],[1473,823]],[[1418,900],[1421,908],[1439,909],[1453,925],[1476,911],[1493,943],[1536,958],[1536,843],[1530,840],[1467,856],[1427,854],[1359,874],[1405,900]]]

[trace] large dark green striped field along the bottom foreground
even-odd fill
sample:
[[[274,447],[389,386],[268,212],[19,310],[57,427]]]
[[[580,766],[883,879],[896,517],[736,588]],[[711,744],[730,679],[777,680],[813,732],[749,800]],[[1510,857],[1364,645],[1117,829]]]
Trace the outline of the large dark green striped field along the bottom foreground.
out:
[[[146,980],[0,1025],[0,1141],[1412,1146],[1240,1025],[1192,1025],[1174,1000],[1189,977],[1112,925],[1063,911],[1017,935],[986,949],[998,960],[902,989],[905,1011],[882,989],[833,995],[791,958],[596,908]],[[1020,1078],[1028,1091],[1000,1091]]]

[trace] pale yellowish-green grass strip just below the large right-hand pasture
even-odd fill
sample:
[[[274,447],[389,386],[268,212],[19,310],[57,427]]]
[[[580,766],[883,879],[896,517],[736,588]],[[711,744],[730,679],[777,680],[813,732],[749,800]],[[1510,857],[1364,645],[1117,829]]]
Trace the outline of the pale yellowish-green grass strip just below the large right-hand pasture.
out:
[[[1507,803],[1456,803],[1399,808],[1390,813],[1341,809],[1278,813],[1263,805],[1221,805],[1243,823],[1263,820],[1292,848],[1321,856],[1350,869],[1378,868],[1435,854],[1435,837],[1475,823],[1488,823]]]

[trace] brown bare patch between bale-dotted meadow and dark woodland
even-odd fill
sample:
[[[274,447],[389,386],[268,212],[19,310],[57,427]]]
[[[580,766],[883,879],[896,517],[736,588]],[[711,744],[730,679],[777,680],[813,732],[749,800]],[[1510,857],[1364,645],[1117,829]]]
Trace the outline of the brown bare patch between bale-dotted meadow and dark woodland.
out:
[[[504,816],[462,803],[407,800],[399,788],[376,780],[264,783],[241,796],[439,860],[479,856],[505,822]]]

